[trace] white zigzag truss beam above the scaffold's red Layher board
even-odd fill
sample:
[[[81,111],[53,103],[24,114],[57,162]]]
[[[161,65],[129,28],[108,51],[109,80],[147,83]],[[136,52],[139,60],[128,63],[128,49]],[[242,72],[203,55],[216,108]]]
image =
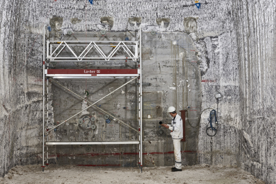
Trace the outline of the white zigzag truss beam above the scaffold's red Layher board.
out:
[[[139,61],[138,41],[48,40],[46,59],[49,62]]]

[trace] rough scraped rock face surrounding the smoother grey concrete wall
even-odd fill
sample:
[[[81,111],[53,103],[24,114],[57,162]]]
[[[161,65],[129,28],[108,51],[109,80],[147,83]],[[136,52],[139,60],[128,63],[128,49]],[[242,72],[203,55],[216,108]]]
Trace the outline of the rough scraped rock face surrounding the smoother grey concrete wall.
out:
[[[43,23],[56,17],[57,37],[69,29],[135,31],[140,22],[144,32],[189,34],[201,69],[201,111],[218,107],[214,137],[206,135],[208,112],[202,113],[198,163],[238,165],[276,183],[275,1],[199,2],[198,9],[179,0],[0,1],[0,175],[41,163],[41,40]],[[170,23],[158,25],[164,17]]]

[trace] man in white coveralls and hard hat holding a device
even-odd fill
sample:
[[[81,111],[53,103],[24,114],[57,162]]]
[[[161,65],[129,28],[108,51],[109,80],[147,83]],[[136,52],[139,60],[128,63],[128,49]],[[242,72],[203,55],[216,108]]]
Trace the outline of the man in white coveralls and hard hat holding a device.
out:
[[[171,136],[173,138],[176,164],[175,164],[175,167],[172,168],[172,172],[182,171],[181,146],[180,146],[180,141],[181,141],[181,139],[183,139],[182,118],[180,115],[177,114],[176,108],[173,106],[170,106],[168,108],[167,112],[170,113],[170,115],[173,117],[172,124],[171,124],[171,126],[169,126],[167,124],[161,124],[161,125],[164,126],[165,128],[169,128],[169,130],[171,130]]]

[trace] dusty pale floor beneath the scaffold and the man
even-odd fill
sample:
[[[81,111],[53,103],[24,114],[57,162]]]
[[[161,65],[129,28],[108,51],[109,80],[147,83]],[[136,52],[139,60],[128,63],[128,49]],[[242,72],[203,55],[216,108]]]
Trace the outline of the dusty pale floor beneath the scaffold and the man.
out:
[[[0,184],[265,184],[239,168],[197,165],[171,172],[171,167],[96,168],[49,165],[16,166]]]

